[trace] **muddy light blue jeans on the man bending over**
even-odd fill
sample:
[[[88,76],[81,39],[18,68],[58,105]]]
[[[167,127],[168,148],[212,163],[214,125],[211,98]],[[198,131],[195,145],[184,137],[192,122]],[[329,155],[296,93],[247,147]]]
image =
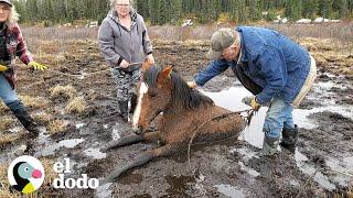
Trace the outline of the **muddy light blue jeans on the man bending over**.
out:
[[[282,129],[293,129],[293,107],[279,98],[275,98],[265,117],[264,132],[266,136],[279,138]]]

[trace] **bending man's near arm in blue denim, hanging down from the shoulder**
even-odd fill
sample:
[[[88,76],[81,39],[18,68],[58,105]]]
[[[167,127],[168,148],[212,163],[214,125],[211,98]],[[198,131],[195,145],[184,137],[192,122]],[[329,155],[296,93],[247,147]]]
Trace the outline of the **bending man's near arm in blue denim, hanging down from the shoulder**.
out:
[[[260,66],[260,74],[264,75],[266,80],[266,86],[256,96],[256,101],[260,105],[266,105],[286,86],[286,61],[281,52],[272,47],[266,47],[256,64]]]

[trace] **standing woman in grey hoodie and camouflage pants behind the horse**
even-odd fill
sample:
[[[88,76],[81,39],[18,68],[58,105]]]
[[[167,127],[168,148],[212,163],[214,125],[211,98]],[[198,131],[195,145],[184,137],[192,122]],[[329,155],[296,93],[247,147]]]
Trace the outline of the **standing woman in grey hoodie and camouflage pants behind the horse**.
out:
[[[98,32],[99,48],[111,66],[117,85],[120,116],[129,120],[136,107],[136,84],[140,80],[141,63],[154,64],[152,44],[143,18],[131,7],[130,0],[111,0],[111,10]]]

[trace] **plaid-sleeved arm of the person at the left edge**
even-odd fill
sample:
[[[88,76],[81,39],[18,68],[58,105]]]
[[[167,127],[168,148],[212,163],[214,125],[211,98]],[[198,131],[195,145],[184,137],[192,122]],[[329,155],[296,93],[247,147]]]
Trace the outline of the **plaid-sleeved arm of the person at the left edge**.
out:
[[[20,57],[21,62],[28,65],[30,62],[33,61],[32,56],[30,55],[30,52],[26,48],[26,44],[23,40],[22,32],[20,30],[20,26],[18,24],[14,24],[12,31],[17,34],[18,38],[18,46],[15,48],[15,55]]]

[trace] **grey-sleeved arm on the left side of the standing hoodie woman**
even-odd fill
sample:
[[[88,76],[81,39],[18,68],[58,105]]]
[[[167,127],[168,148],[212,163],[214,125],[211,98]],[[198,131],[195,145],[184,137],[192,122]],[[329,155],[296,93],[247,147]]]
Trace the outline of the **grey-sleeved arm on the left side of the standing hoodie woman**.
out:
[[[98,42],[105,59],[115,66],[119,66],[122,57],[114,51],[114,32],[108,21],[103,21],[98,31]]]

